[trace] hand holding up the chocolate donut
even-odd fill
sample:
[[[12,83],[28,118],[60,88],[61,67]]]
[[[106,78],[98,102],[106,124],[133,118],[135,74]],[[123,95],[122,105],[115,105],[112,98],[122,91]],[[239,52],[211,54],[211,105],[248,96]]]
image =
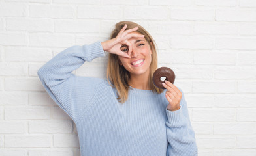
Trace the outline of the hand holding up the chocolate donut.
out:
[[[165,92],[165,97],[169,102],[167,109],[170,111],[179,110],[182,92],[180,92],[180,90],[172,83],[170,83],[170,81],[165,81],[165,83],[163,83],[163,87],[167,89],[167,92]]]

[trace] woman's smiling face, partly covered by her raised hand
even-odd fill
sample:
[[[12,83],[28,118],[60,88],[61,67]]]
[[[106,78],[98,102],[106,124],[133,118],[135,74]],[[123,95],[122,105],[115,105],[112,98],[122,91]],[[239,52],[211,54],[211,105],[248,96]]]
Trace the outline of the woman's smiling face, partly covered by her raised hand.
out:
[[[137,33],[138,32],[132,32]],[[145,38],[131,38],[131,58],[118,56],[120,65],[124,66],[130,75],[150,74],[150,64],[152,60],[152,50]],[[121,45],[121,51],[128,53],[128,46]]]

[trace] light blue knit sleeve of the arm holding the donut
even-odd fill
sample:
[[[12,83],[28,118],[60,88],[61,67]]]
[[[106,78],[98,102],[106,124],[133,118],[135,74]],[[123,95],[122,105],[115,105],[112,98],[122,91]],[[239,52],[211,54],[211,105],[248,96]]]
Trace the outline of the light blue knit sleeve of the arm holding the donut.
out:
[[[180,88],[179,88],[180,89]],[[182,92],[182,90],[180,90]],[[189,120],[187,102],[184,93],[180,101],[180,109],[167,112],[167,155],[197,155],[197,144],[195,141],[195,133]]]

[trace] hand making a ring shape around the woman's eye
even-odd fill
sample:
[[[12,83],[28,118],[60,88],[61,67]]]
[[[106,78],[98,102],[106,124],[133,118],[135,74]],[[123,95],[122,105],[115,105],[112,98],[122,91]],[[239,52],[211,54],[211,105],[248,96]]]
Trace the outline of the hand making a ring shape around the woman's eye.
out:
[[[144,35],[137,34],[137,33],[131,33],[133,31],[138,30],[138,27],[135,27],[133,29],[128,29],[125,31],[126,28],[127,28],[127,25],[123,26],[121,31],[118,32],[118,36],[116,36],[116,38],[112,38],[111,40],[101,42],[103,50],[108,51],[108,53],[120,55],[121,57],[129,57],[130,58],[131,51],[132,51],[132,45],[128,40],[133,37],[144,38]],[[121,45],[127,45],[128,53],[121,51]]]

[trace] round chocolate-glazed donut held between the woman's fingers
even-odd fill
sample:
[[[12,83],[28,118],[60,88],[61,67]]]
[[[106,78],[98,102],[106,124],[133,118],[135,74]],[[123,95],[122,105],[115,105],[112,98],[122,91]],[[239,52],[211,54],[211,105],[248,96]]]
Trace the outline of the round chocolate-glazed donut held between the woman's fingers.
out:
[[[161,77],[166,77],[165,80],[170,81],[172,84],[175,81],[175,73],[168,67],[161,67],[155,70],[153,73],[153,85],[157,86],[157,88],[165,89],[162,83],[165,81],[161,81]]]

